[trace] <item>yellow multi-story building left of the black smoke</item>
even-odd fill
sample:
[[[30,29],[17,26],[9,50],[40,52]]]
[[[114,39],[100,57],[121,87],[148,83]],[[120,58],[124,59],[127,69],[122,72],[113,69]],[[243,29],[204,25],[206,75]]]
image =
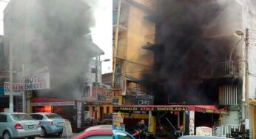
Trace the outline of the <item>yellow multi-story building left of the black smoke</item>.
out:
[[[153,53],[141,49],[144,35],[154,33],[154,24],[144,16],[152,12],[143,0],[113,1],[113,75],[115,104],[133,104],[132,98],[146,94],[139,81],[152,69]]]

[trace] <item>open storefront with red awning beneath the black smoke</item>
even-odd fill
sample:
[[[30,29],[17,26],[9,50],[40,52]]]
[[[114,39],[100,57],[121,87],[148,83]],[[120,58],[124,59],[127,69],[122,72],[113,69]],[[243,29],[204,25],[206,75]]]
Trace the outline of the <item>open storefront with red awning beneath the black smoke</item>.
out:
[[[226,109],[198,105],[116,105],[113,110],[124,116],[127,131],[144,119],[149,132],[167,138],[181,130],[194,135],[197,126],[218,126],[220,115],[228,114]]]

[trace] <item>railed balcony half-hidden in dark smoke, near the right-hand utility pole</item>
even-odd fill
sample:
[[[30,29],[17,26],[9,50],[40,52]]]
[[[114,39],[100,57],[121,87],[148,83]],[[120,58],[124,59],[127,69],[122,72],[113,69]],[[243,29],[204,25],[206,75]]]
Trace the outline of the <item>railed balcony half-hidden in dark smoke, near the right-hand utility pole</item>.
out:
[[[237,78],[239,73],[239,64],[235,61],[224,61],[213,63],[203,72],[200,72],[201,78]]]

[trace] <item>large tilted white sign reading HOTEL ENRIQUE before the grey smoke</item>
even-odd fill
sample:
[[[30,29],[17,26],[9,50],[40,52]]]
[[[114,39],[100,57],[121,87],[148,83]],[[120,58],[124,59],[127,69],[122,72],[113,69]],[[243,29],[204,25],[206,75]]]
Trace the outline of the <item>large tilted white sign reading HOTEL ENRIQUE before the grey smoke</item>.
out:
[[[24,90],[50,89],[49,73],[24,77]]]

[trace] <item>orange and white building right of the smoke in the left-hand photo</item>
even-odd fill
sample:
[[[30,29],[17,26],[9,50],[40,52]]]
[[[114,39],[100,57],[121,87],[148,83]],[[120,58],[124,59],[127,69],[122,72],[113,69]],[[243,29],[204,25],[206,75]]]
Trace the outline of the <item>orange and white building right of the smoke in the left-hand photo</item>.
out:
[[[87,118],[95,121],[103,121],[110,117],[112,113],[112,105],[110,100],[110,92],[112,89],[102,84],[103,76],[101,74],[101,62],[91,59],[87,69],[84,96],[87,109]],[[97,64],[97,67],[96,67]],[[96,81],[95,78],[98,78]]]

